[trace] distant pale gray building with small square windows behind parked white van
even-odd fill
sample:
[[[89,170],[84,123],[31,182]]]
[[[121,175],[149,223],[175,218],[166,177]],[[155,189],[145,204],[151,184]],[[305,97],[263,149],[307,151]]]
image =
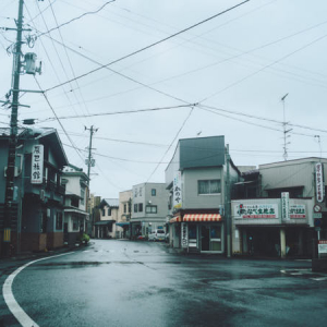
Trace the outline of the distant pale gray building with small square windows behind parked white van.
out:
[[[166,230],[168,191],[165,183],[142,183],[132,189],[132,238],[155,229]]]

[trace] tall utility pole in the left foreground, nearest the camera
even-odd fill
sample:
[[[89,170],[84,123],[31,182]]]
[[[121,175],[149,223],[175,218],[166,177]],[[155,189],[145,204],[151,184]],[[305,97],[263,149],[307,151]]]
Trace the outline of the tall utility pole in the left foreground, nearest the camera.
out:
[[[20,97],[20,74],[21,74],[21,56],[22,56],[22,32],[23,32],[23,4],[20,0],[19,19],[16,21],[16,44],[13,53],[13,76],[12,76],[12,104],[11,104],[11,119],[10,119],[10,137],[8,150],[8,165],[5,178],[5,197],[4,197],[4,219],[3,219],[3,239],[2,239],[2,254],[10,256],[10,245],[12,243],[12,220],[14,214],[12,213],[13,190],[14,190],[14,171],[17,145],[17,113],[19,113],[19,97]]]

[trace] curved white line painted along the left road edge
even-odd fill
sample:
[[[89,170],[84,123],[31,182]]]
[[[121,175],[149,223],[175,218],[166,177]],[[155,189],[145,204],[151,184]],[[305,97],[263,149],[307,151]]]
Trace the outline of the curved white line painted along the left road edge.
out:
[[[31,317],[25,313],[25,311],[16,302],[16,300],[15,300],[13,293],[12,293],[12,283],[13,283],[14,278],[23,269],[25,269],[26,267],[33,265],[34,263],[37,263],[37,262],[40,262],[40,261],[46,261],[46,259],[58,257],[58,256],[62,256],[62,255],[72,254],[72,253],[74,253],[74,252],[52,255],[52,256],[43,257],[43,258],[33,261],[33,262],[29,262],[29,263],[23,265],[22,267],[17,268],[10,276],[8,276],[8,278],[5,279],[5,281],[3,283],[3,287],[2,287],[2,294],[3,294],[4,302],[7,303],[9,310],[11,311],[13,316],[20,322],[20,324],[23,327],[38,327],[38,325],[33,319],[31,319]]]

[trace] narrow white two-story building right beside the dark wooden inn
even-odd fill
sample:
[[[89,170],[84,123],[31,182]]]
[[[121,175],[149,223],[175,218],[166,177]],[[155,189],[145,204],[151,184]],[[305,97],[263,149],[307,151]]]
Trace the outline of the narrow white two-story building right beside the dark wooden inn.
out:
[[[63,168],[62,184],[65,185],[63,238],[74,244],[86,232],[89,215],[86,211],[88,178],[82,168],[69,165]]]

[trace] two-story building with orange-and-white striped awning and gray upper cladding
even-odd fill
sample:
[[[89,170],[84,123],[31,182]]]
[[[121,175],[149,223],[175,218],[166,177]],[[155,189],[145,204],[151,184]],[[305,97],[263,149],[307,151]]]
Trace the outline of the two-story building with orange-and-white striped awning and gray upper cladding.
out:
[[[170,245],[187,252],[225,253],[227,186],[240,179],[227,159],[223,136],[180,140],[166,169]]]

